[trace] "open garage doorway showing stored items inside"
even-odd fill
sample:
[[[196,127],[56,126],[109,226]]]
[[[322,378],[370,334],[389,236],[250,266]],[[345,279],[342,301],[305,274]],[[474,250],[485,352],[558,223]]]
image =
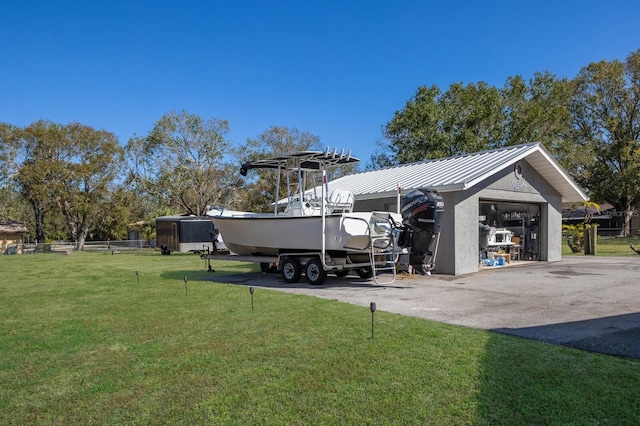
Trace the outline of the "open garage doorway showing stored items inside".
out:
[[[480,201],[479,258],[540,260],[540,205]]]

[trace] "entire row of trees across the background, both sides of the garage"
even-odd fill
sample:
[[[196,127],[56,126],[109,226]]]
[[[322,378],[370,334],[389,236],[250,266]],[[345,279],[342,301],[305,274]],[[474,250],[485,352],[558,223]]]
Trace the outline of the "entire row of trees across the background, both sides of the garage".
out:
[[[368,169],[541,142],[589,194],[624,212],[623,235],[640,207],[640,50],[600,61],[573,79],[544,72],[485,82],[418,87],[382,126]],[[275,179],[239,182],[242,161],[322,149],[308,132],[273,126],[239,146],[226,120],[187,111],[161,117],[121,145],[106,130],[39,120],[0,122],[0,218],[27,223],[32,240],[125,239],[157,216],[203,215],[210,206],[265,211]],[[353,170],[342,170],[349,173]],[[284,191],[281,188],[281,191]],[[281,192],[284,193],[284,192]]]

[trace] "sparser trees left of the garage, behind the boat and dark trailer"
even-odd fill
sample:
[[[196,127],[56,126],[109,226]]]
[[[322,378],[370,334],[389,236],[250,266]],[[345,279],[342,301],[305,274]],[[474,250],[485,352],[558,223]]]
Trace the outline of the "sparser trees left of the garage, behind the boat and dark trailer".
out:
[[[151,240],[158,216],[202,216],[221,205],[267,210],[275,179],[239,181],[239,164],[322,149],[319,137],[286,127],[239,147],[228,132],[226,120],[187,111],[165,114],[124,146],[79,123],[0,123],[0,218],[25,222],[30,240],[71,240],[79,250],[87,239],[126,239],[135,223]]]

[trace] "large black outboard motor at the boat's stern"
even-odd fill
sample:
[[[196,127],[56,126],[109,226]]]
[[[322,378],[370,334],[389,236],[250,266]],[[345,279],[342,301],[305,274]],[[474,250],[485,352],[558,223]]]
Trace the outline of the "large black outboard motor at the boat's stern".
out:
[[[428,275],[435,267],[444,202],[435,189],[414,189],[402,198],[403,234],[400,245],[411,247],[409,263],[416,273]]]

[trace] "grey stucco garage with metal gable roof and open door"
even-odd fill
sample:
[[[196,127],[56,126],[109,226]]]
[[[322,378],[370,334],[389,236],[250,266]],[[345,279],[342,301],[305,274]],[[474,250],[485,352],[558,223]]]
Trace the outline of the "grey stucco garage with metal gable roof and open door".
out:
[[[335,188],[354,193],[356,211],[396,211],[399,188],[436,189],[445,212],[435,272],[450,275],[477,272],[483,254],[497,250],[510,260],[560,260],[562,203],[587,200],[540,143],[356,173],[330,182]],[[487,247],[483,227],[513,240]]]

